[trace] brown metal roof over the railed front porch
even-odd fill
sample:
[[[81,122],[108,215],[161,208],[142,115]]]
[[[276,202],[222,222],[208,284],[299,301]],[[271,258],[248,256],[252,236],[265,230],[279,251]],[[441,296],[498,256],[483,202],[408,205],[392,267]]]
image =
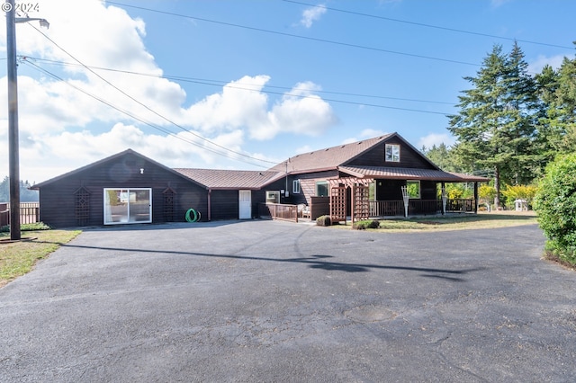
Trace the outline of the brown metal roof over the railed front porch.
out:
[[[435,169],[417,169],[385,166],[338,166],[343,173],[358,178],[379,178],[389,180],[426,180],[446,183],[488,182],[490,178],[468,174],[448,173]]]

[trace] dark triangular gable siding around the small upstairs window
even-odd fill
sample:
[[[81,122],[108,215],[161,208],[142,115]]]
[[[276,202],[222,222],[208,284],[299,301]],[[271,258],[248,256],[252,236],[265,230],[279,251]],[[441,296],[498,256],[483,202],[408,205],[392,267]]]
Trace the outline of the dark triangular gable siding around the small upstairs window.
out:
[[[400,145],[400,162],[386,162],[386,144]],[[413,167],[419,169],[435,169],[423,155],[406,144],[401,138],[392,137],[382,144],[368,150],[361,156],[356,157],[345,165],[368,165],[368,166],[389,166],[389,167]]]

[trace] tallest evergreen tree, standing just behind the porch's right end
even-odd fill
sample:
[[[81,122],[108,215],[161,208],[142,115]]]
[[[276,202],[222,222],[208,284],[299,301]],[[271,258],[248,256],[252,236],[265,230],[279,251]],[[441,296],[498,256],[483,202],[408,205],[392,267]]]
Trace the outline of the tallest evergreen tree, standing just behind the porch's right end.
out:
[[[501,183],[528,183],[535,176],[536,83],[516,43],[509,55],[495,45],[477,76],[464,78],[473,87],[459,96],[459,113],[449,116],[453,150],[470,170],[493,170],[499,207]]]

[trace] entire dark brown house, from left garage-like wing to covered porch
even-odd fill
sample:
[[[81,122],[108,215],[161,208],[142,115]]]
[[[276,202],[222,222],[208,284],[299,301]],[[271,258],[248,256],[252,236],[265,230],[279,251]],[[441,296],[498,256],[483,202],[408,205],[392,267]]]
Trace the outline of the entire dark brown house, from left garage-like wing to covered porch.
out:
[[[128,149],[34,185],[40,219],[51,227],[244,219],[263,206],[308,205],[335,220],[475,211],[474,200],[445,201],[445,183],[488,179],[446,173],[392,133],[293,156],[267,171],[170,169]],[[446,208],[447,206],[447,208]]]

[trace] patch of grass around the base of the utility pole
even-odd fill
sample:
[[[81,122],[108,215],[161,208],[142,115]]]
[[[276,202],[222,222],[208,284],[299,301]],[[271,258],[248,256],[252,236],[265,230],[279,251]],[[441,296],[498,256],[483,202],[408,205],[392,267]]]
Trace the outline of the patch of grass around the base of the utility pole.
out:
[[[0,288],[30,272],[36,262],[46,258],[62,244],[74,239],[80,230],[24,231],[20,242],[7,243],[9,233],[0,233]]]

